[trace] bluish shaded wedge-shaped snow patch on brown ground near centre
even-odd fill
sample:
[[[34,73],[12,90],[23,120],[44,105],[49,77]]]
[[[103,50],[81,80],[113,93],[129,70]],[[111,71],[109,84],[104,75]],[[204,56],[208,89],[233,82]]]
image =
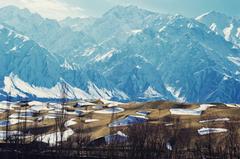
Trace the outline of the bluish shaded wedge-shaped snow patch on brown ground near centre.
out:
[[[129,115],[126,118],[113,121],[108,126],[109,127],[119,127],[119,126],[128,126],[133,124],[141,124],[148,120],[147,117],[141,115]]]

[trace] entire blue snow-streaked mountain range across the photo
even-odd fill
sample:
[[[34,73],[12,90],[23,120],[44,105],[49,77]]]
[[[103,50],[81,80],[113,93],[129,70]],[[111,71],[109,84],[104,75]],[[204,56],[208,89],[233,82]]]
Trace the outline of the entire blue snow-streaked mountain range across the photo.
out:
[[[99,18],[0,9],[0,96],[240,102],[240,20],[116,6]]]

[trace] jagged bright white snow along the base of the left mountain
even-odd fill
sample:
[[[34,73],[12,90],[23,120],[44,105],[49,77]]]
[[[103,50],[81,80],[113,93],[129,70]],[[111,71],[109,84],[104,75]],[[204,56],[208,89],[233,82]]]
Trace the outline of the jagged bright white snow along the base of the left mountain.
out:
[[[112,97],[128,99],[128,96],[120,90],[117,90],[117,89],[108,90],[106,88],[98,88],[91,81],[88,82],[88,92],[86,92],[80,88],[73,87],[68,83],[66,83],[66,84],[68,86],[68,91],[66,92],[66,96],[69,99],[76,99],[76,98],[77,99],[91,99],[92,97],[94,97],[96,99],[97,98],[111,99]],[[57,83],[52,88],[45,88],[45,87],[37,87],[34,85],[30,85],[29,83],[21,80],[14,73],[10,73],[9,76],[4,77],[3,91],[10,94],[12,97],[26,98],[27,94],[32,94],[38,98],[60,99],[60,98],[62,98],[61,90],[62,90],[61,83]],[[34,101],[33,103],[30,103],[30,104],[39,105],[39,103],[37,101]]]

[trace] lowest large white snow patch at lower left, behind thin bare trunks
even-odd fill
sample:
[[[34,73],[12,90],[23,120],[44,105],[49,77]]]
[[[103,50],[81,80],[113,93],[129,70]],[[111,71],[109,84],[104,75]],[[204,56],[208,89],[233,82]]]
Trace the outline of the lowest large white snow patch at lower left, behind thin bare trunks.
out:
[[[74,134],[72,129],[67,129],[62,133],[62,141],[67,141],[67,139]],[[42,141],[44,143],[49,143],[50,146],[54,146],[56,142],[61,141],[61,132],[54,132],[47,135],[42,135],[37,138],[37,141]]]

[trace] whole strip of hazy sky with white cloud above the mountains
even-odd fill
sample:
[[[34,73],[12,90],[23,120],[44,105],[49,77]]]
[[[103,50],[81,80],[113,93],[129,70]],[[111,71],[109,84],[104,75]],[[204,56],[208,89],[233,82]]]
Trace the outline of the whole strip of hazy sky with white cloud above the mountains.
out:
[[[101,16],[115,5],[136,5],[160,13],[196,17],[208,11],[220,11],[240,17],[240,0],[0,0],[0,7],[16,5],[44,17]]]

